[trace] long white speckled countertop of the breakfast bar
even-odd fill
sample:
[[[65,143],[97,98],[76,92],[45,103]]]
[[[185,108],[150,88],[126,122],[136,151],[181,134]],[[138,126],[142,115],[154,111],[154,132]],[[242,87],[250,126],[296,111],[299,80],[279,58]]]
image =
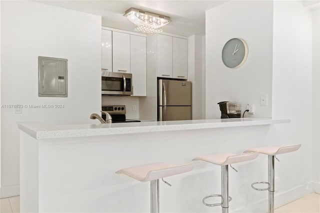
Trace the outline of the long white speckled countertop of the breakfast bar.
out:
[[[54,139],[54,138],[69,138],[69,137],[84,137],[84,136],[101,136],[101,135],[114,135],[114,134],[129,134],[129,133],[143,133],[143,132],[157,132],[157,131],[177,131],[177,130],[191,130],[191,129],[207,129],[207,128],[223,128],[223,127],[236,127],[236,126],[253,126],[253,125],[268,125],[268,124],[279,124],[289,123],[290,119],[271,119],[271,118],[255,118],[248,120],[225,120],[225,119],[203,119],[197,120],[197,123],[176,123],[176,124],[162,124],[155,125],[156,121],[145,122],[145,125],[137,126],[103,126],[97,128],[72,128],[74,125],[69,126],[69,129],[52,129],[42,130],[41,127],[34,127],[36,123],[29,122],[18,122],[20,130],[29,134],[35,139]],[[245,118],[244,118],[245,119]],[[194,121],[194,120],[193,120]],[[40,123],[38,123],[39,126]],[[152,124],[152,125],[151,125]],[[92,124],[91,124],[92,125]],[[59,126],[59,125],[52,125]]]

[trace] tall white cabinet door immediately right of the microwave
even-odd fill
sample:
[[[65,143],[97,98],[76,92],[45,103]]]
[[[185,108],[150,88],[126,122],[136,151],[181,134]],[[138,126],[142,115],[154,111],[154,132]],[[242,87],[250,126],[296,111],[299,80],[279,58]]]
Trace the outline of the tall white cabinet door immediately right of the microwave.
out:
[[[130,35],[133,96],[146,96],[146,37]]]

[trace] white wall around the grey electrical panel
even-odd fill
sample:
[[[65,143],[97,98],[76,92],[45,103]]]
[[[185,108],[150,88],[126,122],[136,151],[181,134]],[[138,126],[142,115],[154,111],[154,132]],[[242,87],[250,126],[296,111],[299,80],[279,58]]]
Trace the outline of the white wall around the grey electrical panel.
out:
[[[17,121],[95,123],[101,105],[101,17],[33,1],[1,1],[1,196],[19,193]],[[68,59],[68,97],[38,97],[38,56]]]

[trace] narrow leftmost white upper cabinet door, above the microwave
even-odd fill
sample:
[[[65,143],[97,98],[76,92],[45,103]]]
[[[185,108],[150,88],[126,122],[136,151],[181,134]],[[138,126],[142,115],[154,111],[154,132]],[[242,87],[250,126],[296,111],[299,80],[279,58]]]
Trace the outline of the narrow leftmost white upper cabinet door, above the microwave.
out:
[[[112,71],[112,31],[101,30],[101,69]]]

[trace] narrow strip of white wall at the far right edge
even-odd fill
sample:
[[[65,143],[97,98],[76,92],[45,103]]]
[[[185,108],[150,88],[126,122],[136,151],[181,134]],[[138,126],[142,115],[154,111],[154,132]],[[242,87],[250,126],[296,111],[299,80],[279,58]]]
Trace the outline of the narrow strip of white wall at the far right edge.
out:
[[[312,180],[320,193],[320,8],[312,9]]]

